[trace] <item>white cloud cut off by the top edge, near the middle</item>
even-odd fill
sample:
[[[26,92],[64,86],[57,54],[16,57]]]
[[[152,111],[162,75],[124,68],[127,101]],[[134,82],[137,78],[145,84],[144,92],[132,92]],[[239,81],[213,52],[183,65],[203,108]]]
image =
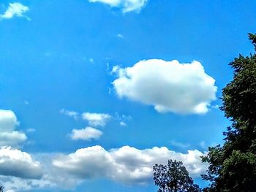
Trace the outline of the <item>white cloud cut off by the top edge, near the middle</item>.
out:
[[[89,0],[91,3],[99,2],[110,7],[120,7],[123,12],[140,11],[148,0]]]

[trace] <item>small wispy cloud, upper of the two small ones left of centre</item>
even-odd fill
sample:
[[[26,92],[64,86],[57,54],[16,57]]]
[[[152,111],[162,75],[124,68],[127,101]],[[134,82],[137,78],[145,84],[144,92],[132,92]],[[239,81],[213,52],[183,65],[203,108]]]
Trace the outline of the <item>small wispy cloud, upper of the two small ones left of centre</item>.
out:
[[[107,113],[84,112],[82,118],[88,120],[90,126],[105,126],[111,116]]]

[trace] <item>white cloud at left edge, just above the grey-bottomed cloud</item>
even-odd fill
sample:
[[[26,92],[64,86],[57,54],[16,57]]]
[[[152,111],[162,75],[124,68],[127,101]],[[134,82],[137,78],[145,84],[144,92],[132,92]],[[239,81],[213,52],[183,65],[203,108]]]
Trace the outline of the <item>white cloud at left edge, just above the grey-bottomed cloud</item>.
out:
[[[0,110],[0,146],[18,146],[26,141],[26,134],[15,131],[19,122],[11,110]]]

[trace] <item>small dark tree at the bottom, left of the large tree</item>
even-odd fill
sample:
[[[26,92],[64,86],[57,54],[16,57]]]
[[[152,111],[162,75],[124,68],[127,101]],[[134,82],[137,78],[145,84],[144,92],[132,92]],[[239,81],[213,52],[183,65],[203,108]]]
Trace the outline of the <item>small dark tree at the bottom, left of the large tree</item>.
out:
[[[167,165],[156,164],[153,166],[154,183],[159,186],[158,192],[197,192],[198,185],[193,183],[189,172],[181,161],[169,160]]]

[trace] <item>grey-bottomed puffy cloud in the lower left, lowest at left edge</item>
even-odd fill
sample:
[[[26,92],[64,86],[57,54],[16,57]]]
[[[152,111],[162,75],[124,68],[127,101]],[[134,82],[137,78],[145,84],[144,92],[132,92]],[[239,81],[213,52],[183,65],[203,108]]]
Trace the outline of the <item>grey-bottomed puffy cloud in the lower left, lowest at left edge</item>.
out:
[[[23,179],[39,179],[42,177],[41,166],[31,155],[11,147],[0,148],[0,174]]]

